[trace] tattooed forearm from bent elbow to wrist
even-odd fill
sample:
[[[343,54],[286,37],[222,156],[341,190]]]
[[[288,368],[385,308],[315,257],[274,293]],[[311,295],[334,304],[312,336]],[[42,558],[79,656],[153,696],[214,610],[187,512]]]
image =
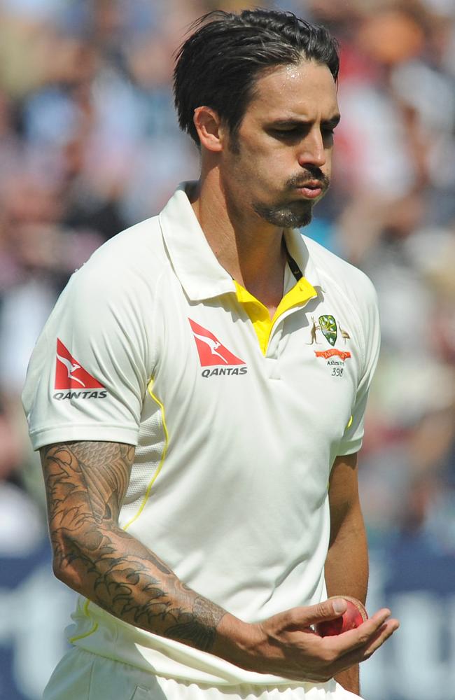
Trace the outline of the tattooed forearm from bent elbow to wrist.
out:
[[[60,579],[111,615],[204,651],[226,611],[186,587],[158,556],[116,528],[85,523],[62,542],[54,533]]]

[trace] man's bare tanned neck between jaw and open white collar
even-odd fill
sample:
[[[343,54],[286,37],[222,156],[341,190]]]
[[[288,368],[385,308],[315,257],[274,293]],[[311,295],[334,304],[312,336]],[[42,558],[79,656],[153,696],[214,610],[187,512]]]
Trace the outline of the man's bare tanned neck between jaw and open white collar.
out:
[[[218,262],[265,306],[276,307],[283,296],[286,265],[283,230],[230,201],[216,169],[188,194]]]

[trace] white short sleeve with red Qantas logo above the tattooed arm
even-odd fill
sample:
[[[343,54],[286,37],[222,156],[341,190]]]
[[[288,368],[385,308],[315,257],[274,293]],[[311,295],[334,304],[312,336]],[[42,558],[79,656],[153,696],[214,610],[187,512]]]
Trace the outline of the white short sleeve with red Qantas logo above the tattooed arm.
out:
[[[134,271],[125,277],[89,262],[73,274],[36,343],[22,393],[34,449],[69,440],[137,444],[153,365],[152,308]]]

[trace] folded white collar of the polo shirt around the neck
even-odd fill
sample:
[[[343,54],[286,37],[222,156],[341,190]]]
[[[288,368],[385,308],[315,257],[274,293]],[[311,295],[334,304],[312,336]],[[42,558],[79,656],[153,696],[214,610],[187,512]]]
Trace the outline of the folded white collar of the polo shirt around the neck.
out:
[[[172,195],[159,220],[162,237],[174,271],[192,301],[203,301],[226,293],[235,293],[235,281],[216,259],[190,200],[186,188],[193,183],[183,182]],[[286,247],[307,281],[319,285],[316,269],[309,260],[308,248],[298,230],[286,229]]]

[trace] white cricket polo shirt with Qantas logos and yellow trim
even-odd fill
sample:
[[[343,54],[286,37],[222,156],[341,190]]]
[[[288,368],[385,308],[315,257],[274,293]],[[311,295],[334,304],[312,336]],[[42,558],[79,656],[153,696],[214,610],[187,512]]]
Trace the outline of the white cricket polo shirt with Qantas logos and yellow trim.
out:
[[[120,526],[246,622],[326,597],[328,480],[358,451],[379,352],[372,283],[298,231],[274,318],[221,267],[179,186],[76,271],[23,402],[34,449],[136,446]],[[158,675],[286,683],[80,598],[70,640]]]

